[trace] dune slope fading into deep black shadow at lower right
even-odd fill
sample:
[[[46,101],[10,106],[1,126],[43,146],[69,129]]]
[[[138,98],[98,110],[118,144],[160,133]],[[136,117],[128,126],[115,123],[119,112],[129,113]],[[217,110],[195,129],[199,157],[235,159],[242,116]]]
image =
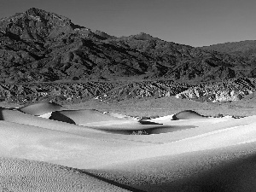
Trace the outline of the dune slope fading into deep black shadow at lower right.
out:
[[[255,191],[256,143],[134,160],[89,172],[143,191]]]

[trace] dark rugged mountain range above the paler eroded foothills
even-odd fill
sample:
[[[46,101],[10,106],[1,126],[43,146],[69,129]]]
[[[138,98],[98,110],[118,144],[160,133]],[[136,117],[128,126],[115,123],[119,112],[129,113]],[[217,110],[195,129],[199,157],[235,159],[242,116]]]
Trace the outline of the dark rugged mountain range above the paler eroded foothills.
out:
[[[0,20],[0,72],[2,83],[256,76],[253,63],[241,56],[146,33],[116,38],[34,8]]]

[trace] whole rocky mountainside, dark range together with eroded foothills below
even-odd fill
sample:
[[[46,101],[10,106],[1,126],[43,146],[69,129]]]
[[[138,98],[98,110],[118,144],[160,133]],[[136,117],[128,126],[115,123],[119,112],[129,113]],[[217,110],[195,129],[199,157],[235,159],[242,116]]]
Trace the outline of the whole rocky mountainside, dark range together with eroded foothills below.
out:
[[[175,44],[143,32],[116,38],[32,8],[0,20],[0,100],[112,102],[177,95],[234,101],[254,91],[256,68],[252,59],[232,51]],[[216,81],[223,83],[209,83]]]

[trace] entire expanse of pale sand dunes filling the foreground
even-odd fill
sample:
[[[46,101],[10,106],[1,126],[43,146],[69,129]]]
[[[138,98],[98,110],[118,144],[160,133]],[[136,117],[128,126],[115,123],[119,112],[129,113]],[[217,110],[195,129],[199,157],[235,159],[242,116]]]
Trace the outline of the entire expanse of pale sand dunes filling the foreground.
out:
[[[2,191],[255,191],[256,116],[1,108]],[[143,133],[143,134],[142,134]]]

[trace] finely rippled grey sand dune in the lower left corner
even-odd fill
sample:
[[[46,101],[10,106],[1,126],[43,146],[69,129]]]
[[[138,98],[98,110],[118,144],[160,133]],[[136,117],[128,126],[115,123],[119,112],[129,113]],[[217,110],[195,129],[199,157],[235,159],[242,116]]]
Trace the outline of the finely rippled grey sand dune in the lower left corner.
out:
[[[12,158],[0,163],[1,191],[131,191],[65,166]]]

